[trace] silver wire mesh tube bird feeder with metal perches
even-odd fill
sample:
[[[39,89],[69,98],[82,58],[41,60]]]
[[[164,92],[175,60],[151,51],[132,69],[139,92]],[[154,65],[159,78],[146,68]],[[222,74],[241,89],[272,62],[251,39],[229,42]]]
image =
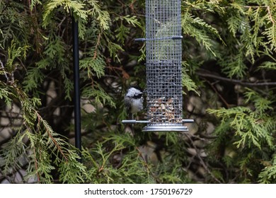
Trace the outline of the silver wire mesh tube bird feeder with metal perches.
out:
[[[180,0],[146,0],[146,111],[144,132],[188,132],[183,120]]]

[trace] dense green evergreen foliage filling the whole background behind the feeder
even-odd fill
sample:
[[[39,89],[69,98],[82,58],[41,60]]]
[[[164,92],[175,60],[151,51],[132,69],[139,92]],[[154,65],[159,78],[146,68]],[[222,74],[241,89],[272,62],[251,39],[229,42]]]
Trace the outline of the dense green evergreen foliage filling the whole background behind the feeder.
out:
[[[127,86],[145,88],[145,46],[133,42],[144,37],[144,6],[0,1],[0,182],[18,182],[20,170],[20,182],[39,183],[276,182],[276,2],[182,1],[190,133],[142,133],[139,124],[132,133],[120,123]],[[72,14],[83,163],[71,141]]]

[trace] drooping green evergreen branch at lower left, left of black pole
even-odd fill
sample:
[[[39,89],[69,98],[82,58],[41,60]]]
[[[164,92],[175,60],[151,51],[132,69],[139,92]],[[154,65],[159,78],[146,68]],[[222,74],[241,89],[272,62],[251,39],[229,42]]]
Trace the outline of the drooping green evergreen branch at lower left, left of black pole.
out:
[[[62,172],[60,181],[81,182],[82,177],[76,174],[76,170],[84,170],[84,165],[76,161],[78,158],[76,150],[55,133],[35,110],[41,105],[40,100],[28,98],[21,88],[17,88],[16,84],[9,86],[8,89],[14,97],[21,101],[23,125],[1,151],[5,164],[4,175],[23,168],[25,166],[23,161],[29,161],[28,175],[25,175],[24,181],[32,177],[38,182],[50,183],[53,180],[52,170],[55,170],[52,157],[55,157],[54,164],[59,165],[59,171]],[[72,175],[74,177],[71,177]]]

